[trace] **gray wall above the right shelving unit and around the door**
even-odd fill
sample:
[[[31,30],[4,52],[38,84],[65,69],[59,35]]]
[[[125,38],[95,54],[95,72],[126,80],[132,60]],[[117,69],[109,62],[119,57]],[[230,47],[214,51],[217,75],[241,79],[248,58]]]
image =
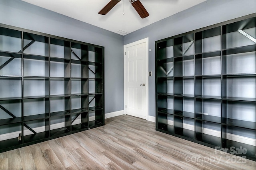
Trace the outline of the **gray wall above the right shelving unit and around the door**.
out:
[[[207,0],[125,35],[124,45],[149,37],[149,115],[155,116],[155,41],[253,13],[256,0]]]

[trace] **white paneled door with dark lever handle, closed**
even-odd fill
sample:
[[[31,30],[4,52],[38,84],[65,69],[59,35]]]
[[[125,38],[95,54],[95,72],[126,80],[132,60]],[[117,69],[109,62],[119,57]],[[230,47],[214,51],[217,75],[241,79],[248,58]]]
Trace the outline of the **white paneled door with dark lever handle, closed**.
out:
[[[126,114],[146,119],[146,42],[125,52]]]

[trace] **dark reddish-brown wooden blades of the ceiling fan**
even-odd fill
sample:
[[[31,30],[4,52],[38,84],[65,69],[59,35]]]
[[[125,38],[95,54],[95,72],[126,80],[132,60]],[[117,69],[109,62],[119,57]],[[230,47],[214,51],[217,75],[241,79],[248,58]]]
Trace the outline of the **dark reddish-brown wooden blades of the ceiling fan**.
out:
[[[111,0],[100,10],[98,14],[106,15],[118,2],[121,0]],[[144,8],[140,0],[130,0],[130,3],[132,4],[133,8],[138,12],[141,18],[146,18],[149,16],[147,10]]]

